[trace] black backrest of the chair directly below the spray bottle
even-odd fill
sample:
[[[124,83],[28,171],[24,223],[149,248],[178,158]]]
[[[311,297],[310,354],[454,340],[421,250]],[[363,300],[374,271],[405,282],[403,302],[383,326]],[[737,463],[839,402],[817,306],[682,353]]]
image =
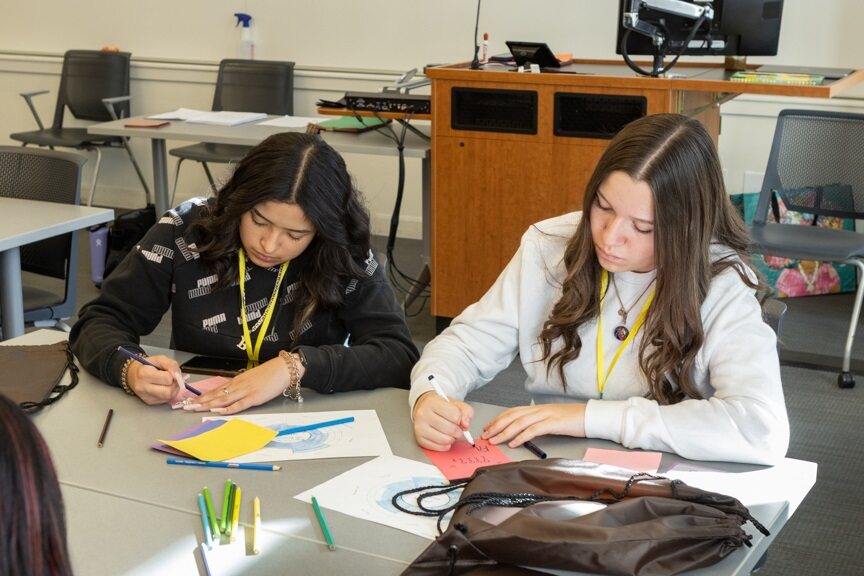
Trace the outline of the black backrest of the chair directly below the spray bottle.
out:
[[[213,110],[294,113],[294,63],[226,59],[219,63]]]

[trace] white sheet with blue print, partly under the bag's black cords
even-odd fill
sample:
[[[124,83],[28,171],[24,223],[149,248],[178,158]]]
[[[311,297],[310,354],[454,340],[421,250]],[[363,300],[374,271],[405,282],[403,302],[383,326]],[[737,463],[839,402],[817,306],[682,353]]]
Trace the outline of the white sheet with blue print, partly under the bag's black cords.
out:
[[[447,479],[435,466],[398,456],[381,456],[340,474],[335,478],[295,496],[303,502],[312,502],[312,496],[322,507],[370,520],[434,540],[438,537],[438,518],[414,516],[396,509],[392,498],[403,490],[421,486],[445,486]],[[455,504],[462,494],[461,488],[448,494],[426,498],[423,504],[430,508],[446,508]],[[416,497],[404,501],[408,509],[419,510]],[[442,522],[447,528],[450,513]]]

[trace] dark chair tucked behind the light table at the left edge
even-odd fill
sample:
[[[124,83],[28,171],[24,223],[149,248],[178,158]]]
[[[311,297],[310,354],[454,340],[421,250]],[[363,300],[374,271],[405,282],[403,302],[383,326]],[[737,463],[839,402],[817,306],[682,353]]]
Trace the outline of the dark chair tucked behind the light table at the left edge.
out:
[[[79,154],[0,146],[0,196],[80,204]],[[76,313],[78,232],[21,247],[24,322],[69,331]]]

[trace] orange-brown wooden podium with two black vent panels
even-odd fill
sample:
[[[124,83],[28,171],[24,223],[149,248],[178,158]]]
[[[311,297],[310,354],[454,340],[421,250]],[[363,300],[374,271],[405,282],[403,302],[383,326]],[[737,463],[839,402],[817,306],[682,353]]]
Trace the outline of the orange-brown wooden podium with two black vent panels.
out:
[[[478,300],[534,222],[582,208],[612,135],[640,115],[698,118],[715,139],[720,104],[741,93],[830,98],[864,79],[821,86],[745,84],[716,66],[686,78],[636,76],[623,63],[573,61],[558,73],[428,68],[432,79],[432,314],[439,326]]]

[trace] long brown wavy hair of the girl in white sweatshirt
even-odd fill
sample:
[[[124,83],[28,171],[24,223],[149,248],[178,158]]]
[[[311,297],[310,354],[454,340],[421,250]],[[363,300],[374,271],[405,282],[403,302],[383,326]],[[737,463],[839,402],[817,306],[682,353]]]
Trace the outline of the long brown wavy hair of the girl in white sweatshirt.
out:
[[[585,190],[582,220],[564,253],[561,299],[540,333],[543,360],[549,359],[547,370],[557,369],[566,387],[564,366],[582,350],[577,331],[599,315],[602,268],[591,236],[591,207],[598,188],[616,171],[648,184],[654,197],[657,283],[639,346],[647,397],[661,404],[700,398],[691,369],[705,339],[700,307],[712,278],[731,267],[748,286],[760,288],[760,283],[751,280],[758,275],[749,265],[748,232],[726,194],[714,142],[701,123],[680,114],[655,114],[628,124],[597,163]],[[731,252],[712,261],[712,245]],[[558,338],[563,347],[553,354]]]

